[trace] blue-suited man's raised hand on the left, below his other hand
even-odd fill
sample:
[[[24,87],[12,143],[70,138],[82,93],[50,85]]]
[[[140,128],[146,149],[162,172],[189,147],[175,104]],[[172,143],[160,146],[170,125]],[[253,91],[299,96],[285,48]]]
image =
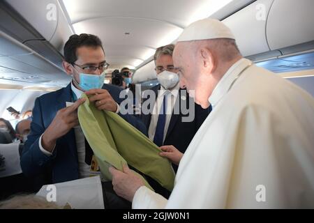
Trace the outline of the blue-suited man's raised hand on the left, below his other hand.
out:
[[[79,125],[77,108],[82,105],[85,98],[80,98],[73,105],[60,109],[54,120],[43,133],[41,144],[48,152],[52,152],[57,139],[68,133],[71,128]]]

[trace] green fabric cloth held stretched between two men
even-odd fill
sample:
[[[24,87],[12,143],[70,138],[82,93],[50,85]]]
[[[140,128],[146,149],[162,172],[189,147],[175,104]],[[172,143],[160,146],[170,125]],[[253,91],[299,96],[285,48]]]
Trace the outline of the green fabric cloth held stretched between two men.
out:
[[[82,98],[87,98],[87,95],[83,94]],[[78,108],[78,118],[105,180],[112,180],[108,170],[110,166],[122,170],[123,164],[130,164],[172,191],[175,174],[171,163],[160,157],[160,148],[142,132],[118,114],[96,109],[88,98]],[[144,180],[140,174],[137,175]],[[153,190],[147,180],[144,183]]]

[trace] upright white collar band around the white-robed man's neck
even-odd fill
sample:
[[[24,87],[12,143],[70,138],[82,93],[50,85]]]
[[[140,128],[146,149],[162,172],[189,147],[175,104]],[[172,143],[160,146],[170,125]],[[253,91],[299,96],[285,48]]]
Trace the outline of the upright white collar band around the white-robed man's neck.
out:
[[[229,70],[223,75],[223,78],[220,79],[218,84],[216,85],[213,93],[211,93],[211,96],[209,97],[209,103],[211,103],[211,106],[214,108],[218,104],[221,98],[229,91],[230,86],[232,85],[232,82],[234,82],[234,79],[237,78],[237,75],[244,70],[251,61],[248,59],[240,59],[234,65],[232,65]]]

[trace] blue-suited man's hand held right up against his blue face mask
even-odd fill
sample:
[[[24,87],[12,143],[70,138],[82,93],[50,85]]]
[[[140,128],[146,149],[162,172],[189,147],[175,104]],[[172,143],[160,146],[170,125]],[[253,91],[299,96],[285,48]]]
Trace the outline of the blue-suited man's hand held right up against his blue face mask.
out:
[[[85,92],[90,102],[95,102],[95,106],[98,110],[107,110],[110,112],[117,111],[117,102],[115,102],[110,93],[105,89],[91,89]]]

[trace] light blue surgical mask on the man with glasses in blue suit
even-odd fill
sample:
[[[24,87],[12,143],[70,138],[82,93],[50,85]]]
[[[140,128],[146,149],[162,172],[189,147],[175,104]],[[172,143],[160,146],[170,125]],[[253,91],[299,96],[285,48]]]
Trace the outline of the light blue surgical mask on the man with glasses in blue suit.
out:
[[[76,69],[75,69],[76,70]],[[101,89],[105,82],[105,73],[101,75],[89,75],[84,72],[80,72],[80,84],[75,79],[73,81],[80,86],[83,91],[89,91],[91,89]]]

